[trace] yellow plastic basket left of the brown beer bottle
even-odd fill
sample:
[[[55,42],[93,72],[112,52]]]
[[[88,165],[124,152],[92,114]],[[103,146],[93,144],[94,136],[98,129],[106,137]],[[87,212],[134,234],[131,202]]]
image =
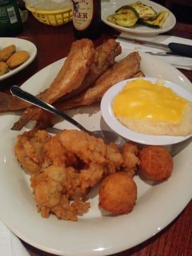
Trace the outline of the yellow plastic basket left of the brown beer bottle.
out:
[[[31,8],[26,4],[26,8],[33,14],[35,19],[50,26],[61,26],[72,20],[72,8],[70,7],[61,10],[44,11]]]

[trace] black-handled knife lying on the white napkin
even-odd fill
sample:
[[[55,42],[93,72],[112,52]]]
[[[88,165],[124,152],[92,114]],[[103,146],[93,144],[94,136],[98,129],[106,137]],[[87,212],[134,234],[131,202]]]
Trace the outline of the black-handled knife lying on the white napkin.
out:
[[[150,41],[146,41],[146,40],[127,38],[125,36],[117,36],[117,35],[115,35],[115,36],[117,38],[127,40],[127,41],[132,42],[132,43],[148,44],[148,45],[152,45],[152,46],[155,46],[155,47],[158,47],[158,48],[166,49],[166,51],[171,50],[175,54],[179,54],[179,55],[182,55],[182,56],[192,58],[192,45],[178,44],[178,43],[170,43],[170,44],[166,45],[166,44],[159,44],[159,43],[150,42]]]

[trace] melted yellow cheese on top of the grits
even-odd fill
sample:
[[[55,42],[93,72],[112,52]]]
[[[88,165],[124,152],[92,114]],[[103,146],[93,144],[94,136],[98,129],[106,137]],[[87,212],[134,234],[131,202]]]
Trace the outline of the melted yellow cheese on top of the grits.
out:
[[[118,93],[112,108],[117,118],[179,123],[187,103],[170,88],[136,79]]]

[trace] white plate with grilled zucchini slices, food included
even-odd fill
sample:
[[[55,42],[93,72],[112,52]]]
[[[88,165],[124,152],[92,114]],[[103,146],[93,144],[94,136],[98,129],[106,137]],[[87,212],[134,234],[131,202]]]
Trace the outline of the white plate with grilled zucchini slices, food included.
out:
[[[148,0],[102,0],[102,21],[118,31],[139,36],[164,33],[176,23],[172,12]]]

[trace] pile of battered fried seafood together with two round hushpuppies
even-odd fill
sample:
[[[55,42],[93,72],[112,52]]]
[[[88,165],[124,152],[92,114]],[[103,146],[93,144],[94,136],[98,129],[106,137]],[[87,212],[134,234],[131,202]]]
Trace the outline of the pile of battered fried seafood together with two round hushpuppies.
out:
[[[24,172],[31,176],[30,186],[43,218],[55,214],[77,221],[91,207],[86,195],[97,184],[100,210],[129,213],[137,199],[133,179],[137,171],[149,180],[162,181],[173,170],[172,157],[163,147],[140,149],[129,141],[120,150],[113,142],[106,144],[77,130],[54,136],[45,130],[24,132],[14,150]]]

